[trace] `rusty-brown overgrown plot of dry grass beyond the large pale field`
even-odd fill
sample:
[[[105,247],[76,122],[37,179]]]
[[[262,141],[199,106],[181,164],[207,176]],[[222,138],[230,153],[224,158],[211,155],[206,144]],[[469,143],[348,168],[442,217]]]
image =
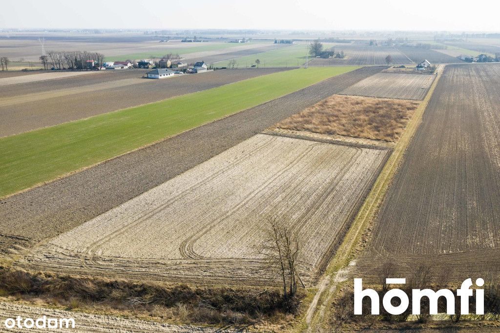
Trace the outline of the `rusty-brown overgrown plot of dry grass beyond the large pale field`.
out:
[[[275,127],[395,141],[418,104],[410,100],[333,95]]]

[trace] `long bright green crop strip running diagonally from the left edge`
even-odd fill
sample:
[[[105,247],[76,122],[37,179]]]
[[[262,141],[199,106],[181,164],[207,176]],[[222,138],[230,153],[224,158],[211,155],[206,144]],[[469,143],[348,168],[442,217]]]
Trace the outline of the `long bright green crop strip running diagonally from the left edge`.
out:
[[[356,68],[272,73],[0,138],[0,197]]]

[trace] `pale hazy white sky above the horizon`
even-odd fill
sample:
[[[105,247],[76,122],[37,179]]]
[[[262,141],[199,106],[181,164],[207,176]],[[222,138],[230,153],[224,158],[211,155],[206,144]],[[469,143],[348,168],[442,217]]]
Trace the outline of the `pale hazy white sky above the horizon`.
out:
[[[2,0],[1,2],[0,28],[500,31],[498,0]]]

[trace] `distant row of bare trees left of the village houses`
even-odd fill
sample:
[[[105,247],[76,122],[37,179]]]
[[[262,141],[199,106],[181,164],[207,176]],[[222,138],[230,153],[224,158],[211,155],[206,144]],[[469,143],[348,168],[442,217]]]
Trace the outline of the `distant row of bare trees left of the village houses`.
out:
[[[87,60],[94,61],[95,66],[101,66],[104,54],[87,51],[49,51],[47,55],[40,56],[40,61],[47,69],[50,64],[54,69],[91,69]]]

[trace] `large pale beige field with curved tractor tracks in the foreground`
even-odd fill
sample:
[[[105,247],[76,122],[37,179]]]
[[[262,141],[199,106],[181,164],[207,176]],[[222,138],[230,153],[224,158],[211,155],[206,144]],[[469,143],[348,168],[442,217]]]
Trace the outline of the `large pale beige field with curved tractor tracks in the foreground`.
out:
[[[35,248],[33,268],[160,280],[258,281],[269,216],[302,243],[302,278],[331,254],[388,149],[257,134]]]

